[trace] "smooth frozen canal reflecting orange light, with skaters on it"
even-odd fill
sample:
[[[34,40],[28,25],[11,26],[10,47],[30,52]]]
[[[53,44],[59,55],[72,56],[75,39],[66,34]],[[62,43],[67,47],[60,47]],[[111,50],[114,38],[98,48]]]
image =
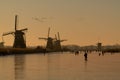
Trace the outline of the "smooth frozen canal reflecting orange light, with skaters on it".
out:
[[[0,80],[120,80],[120,53],[1,56]]]

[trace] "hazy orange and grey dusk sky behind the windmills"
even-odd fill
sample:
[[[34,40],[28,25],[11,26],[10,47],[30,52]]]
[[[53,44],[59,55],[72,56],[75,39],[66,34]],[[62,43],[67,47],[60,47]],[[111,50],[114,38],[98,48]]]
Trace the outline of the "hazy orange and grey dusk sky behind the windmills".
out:
[[[0,0],[0,34],[28,28],[27,46],[46,45],[47,37],[57,32],[63,45],[80,46],[120,44],[120,0]],[[14,36],[4,36],[5,45],[13,45]]]

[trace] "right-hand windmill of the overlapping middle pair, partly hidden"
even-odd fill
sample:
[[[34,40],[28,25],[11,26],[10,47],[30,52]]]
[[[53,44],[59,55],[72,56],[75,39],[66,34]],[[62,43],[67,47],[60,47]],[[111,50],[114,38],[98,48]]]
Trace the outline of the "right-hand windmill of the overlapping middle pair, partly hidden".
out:
[[[58,32],[58,38],[55,35],[55,40],[54,40],[54,49],[56,51],[60,51],[61,50],[61,42],[63,42],[63,41],[67,41],[67,40],[60,40],[60,34]]]

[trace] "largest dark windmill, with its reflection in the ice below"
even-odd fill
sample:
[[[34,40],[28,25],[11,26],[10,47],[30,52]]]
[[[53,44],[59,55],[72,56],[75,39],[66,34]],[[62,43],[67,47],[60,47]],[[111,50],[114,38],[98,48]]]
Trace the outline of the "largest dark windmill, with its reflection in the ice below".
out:
[[[25,31],[27,31],[27,28],[24,29],[17,29],[17,15],[15,15],[15,31],[3,33],[3,36],[12,34],[14,35],[14,43],[13,48],[26,48],[26,37],[25,37]]]

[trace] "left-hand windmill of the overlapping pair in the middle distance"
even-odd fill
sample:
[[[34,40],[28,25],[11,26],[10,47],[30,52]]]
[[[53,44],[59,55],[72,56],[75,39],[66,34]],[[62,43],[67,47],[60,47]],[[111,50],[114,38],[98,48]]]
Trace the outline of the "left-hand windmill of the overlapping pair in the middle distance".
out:
[[[53,38],[50,37],[50,28],[48,29],[48,36],[47,38],[39,38],[39,39],[44,39],[47,41],[47,44],[46,44],[46,49],[47,50],[53,50]]]

